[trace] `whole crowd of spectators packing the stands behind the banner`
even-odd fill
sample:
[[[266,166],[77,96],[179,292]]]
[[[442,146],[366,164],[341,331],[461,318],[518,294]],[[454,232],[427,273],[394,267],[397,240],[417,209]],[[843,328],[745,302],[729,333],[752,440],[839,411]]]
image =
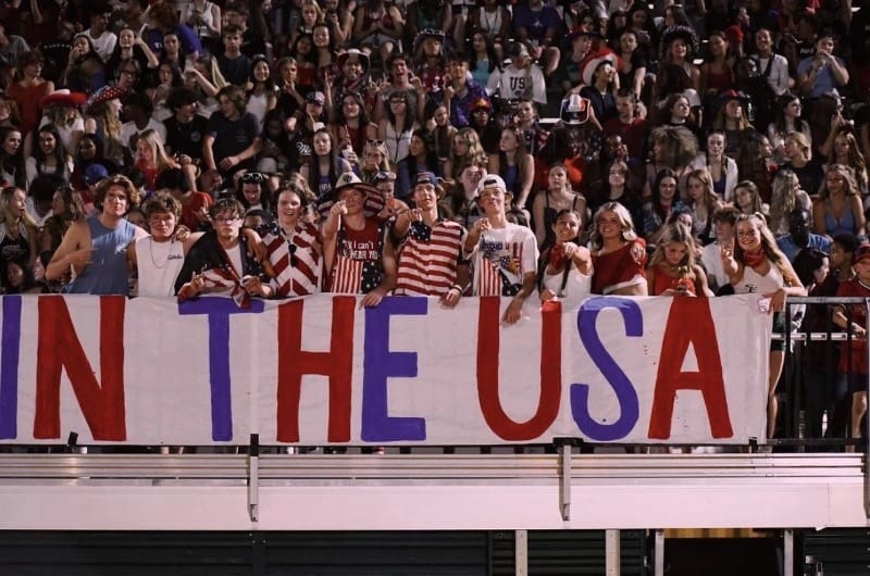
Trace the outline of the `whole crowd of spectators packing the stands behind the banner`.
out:
[[[0,287],[760,292],[784,330],[870,296],[863,4],[8,0]],[[805,322],[856,337],[805,354],[808,428],[856,435],[861,311]]]

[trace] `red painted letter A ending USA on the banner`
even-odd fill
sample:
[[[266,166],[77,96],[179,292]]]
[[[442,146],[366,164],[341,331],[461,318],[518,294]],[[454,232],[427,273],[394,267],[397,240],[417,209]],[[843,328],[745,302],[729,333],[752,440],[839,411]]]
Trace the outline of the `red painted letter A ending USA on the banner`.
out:
[[[700,390],[713,438],[730,438],[734,433],[728,413],[722,360],[719,358],[719,342],[709,301],[706,298],[672,300],[656,375],[649,438],[670,438],[676,390]],[[689,343],[695,350],[698,371],[681,372]]]

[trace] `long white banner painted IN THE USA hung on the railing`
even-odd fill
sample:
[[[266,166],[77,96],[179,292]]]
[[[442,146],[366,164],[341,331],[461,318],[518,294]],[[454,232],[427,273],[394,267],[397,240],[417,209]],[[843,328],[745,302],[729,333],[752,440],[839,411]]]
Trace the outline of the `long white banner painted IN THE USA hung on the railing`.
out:
[[[0,441],[498,444],[763,438],[757,296],[2,298]]]

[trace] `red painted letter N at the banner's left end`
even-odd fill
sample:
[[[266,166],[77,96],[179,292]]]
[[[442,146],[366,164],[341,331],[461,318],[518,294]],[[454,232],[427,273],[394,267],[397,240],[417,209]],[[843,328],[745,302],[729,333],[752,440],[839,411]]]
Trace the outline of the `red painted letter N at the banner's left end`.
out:
[[[75,334],[66,301],[61,297],[39,298],[34,438],[60,438],[63,367],[94,439],[127,439],[124,412],[126,300],[123,296],[100,297],[100,385]]]

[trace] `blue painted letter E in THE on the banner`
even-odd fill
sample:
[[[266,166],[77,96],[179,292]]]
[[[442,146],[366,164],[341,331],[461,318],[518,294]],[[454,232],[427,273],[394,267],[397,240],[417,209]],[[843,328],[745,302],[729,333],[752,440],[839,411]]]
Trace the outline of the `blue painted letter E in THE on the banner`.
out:
[[[384,298],[365,309],[365,360],[362,377],[362,429],[366,442],[425,440],[423,418],[389,416],[387,378],[417,376],[417,352],[389,351],[389,318],[393,315],[425,315],[425,298]]]

